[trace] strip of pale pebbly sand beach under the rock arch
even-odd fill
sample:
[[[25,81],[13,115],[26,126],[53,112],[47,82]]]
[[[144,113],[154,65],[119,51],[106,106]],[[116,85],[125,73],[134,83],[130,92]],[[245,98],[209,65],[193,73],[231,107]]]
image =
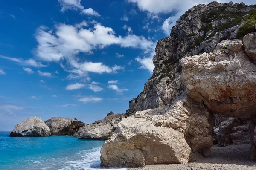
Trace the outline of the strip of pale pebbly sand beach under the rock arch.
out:
[[[188,164],[148,165],[128,170],[256,170],[256,161],[249,161],[250,144],[212,147],[212,155]]]

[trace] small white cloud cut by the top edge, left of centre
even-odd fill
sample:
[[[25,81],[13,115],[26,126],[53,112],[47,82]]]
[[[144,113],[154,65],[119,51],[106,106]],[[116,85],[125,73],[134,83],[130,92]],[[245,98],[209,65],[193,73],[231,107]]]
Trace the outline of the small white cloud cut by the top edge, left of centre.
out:
[[[61,6],[61,12],[84,9],[81,5],[81,0],[58,0],[58,3]]]

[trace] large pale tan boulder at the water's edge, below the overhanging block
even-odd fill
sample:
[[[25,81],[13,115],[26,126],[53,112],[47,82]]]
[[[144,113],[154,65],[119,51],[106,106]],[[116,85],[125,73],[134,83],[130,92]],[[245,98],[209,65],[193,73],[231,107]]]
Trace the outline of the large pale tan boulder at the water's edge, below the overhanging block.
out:
[[[207,157],[213,145],[213,121],[203,104],[186,95],[172,105],[136,112],[117,124],[103,145],[101,166],[144,167],[187,163],[200,153]]]

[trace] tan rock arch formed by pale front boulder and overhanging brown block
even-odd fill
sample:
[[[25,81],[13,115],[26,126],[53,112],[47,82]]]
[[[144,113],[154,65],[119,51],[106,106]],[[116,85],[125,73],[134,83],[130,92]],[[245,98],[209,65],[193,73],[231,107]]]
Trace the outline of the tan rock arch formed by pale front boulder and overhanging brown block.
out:
[[[102,167],[144,167],[207,157],[213,145],[213,112],[236,117],[215,129],[221,144],[249,141],[248,122],[241,118],[256,116],[256,65],[242,40],[224,40],[212,53],[185,57],[180,64],[183,95],[171,105],[137,111],[117,124],[102,147]]]

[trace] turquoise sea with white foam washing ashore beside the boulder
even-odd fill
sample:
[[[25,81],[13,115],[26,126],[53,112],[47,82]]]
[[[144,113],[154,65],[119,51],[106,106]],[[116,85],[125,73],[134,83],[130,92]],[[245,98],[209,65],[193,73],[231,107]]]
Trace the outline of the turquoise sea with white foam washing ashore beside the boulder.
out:
[[[72,136],[14,138],[0,132],[0,170],[126,170],[100,167],[103,143]]]

